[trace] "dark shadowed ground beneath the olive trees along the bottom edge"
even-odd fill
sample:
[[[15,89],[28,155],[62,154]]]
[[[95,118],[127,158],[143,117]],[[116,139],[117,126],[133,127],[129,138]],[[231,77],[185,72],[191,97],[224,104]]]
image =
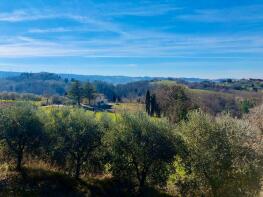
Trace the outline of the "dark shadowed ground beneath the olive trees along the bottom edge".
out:
[[[117,181],[105,179],[75,180],[58,172],[42,169],[24,169],[22,173],[9,172],[0,179],[0,196],[133,196]],[[144,196],[167,196],[147,189]]]

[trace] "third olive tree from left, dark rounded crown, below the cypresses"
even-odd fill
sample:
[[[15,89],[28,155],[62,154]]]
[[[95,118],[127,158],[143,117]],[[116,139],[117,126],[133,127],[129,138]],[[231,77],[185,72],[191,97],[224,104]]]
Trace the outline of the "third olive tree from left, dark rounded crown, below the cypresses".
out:
[[[176,137],[164,120],[145,113],[123,114],[111,134],[112,173],[132,183],[141,194],[147,183],[167,178],[167,164],[176,155]]]

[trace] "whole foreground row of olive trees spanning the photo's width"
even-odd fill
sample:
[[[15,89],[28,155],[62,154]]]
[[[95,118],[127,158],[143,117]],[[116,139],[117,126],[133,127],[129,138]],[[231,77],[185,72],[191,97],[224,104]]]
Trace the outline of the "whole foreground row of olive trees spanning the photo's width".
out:
[[[0,139],[17,170],[34,155],[75,178],[109,172],[138,194],[168,184],[182,196],[255,196],[262,108],[255,113],[246,121],[193,111],[174,126],[145,113],[98,118],[79,108],[19,104],[0,109]]]

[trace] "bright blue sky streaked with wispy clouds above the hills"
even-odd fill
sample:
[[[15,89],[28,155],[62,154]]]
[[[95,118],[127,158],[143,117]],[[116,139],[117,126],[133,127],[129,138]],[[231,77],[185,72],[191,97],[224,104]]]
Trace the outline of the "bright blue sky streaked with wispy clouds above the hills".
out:
[[[263,78],[263,0],[0,0],[0,70]]]

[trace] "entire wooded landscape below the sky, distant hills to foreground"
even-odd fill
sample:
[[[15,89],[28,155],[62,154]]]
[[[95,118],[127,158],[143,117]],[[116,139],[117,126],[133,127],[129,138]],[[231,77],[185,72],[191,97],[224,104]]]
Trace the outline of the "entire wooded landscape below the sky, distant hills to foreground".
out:
[[[22,73],[0,91],[0,196],[262,194],[262,80]]]

